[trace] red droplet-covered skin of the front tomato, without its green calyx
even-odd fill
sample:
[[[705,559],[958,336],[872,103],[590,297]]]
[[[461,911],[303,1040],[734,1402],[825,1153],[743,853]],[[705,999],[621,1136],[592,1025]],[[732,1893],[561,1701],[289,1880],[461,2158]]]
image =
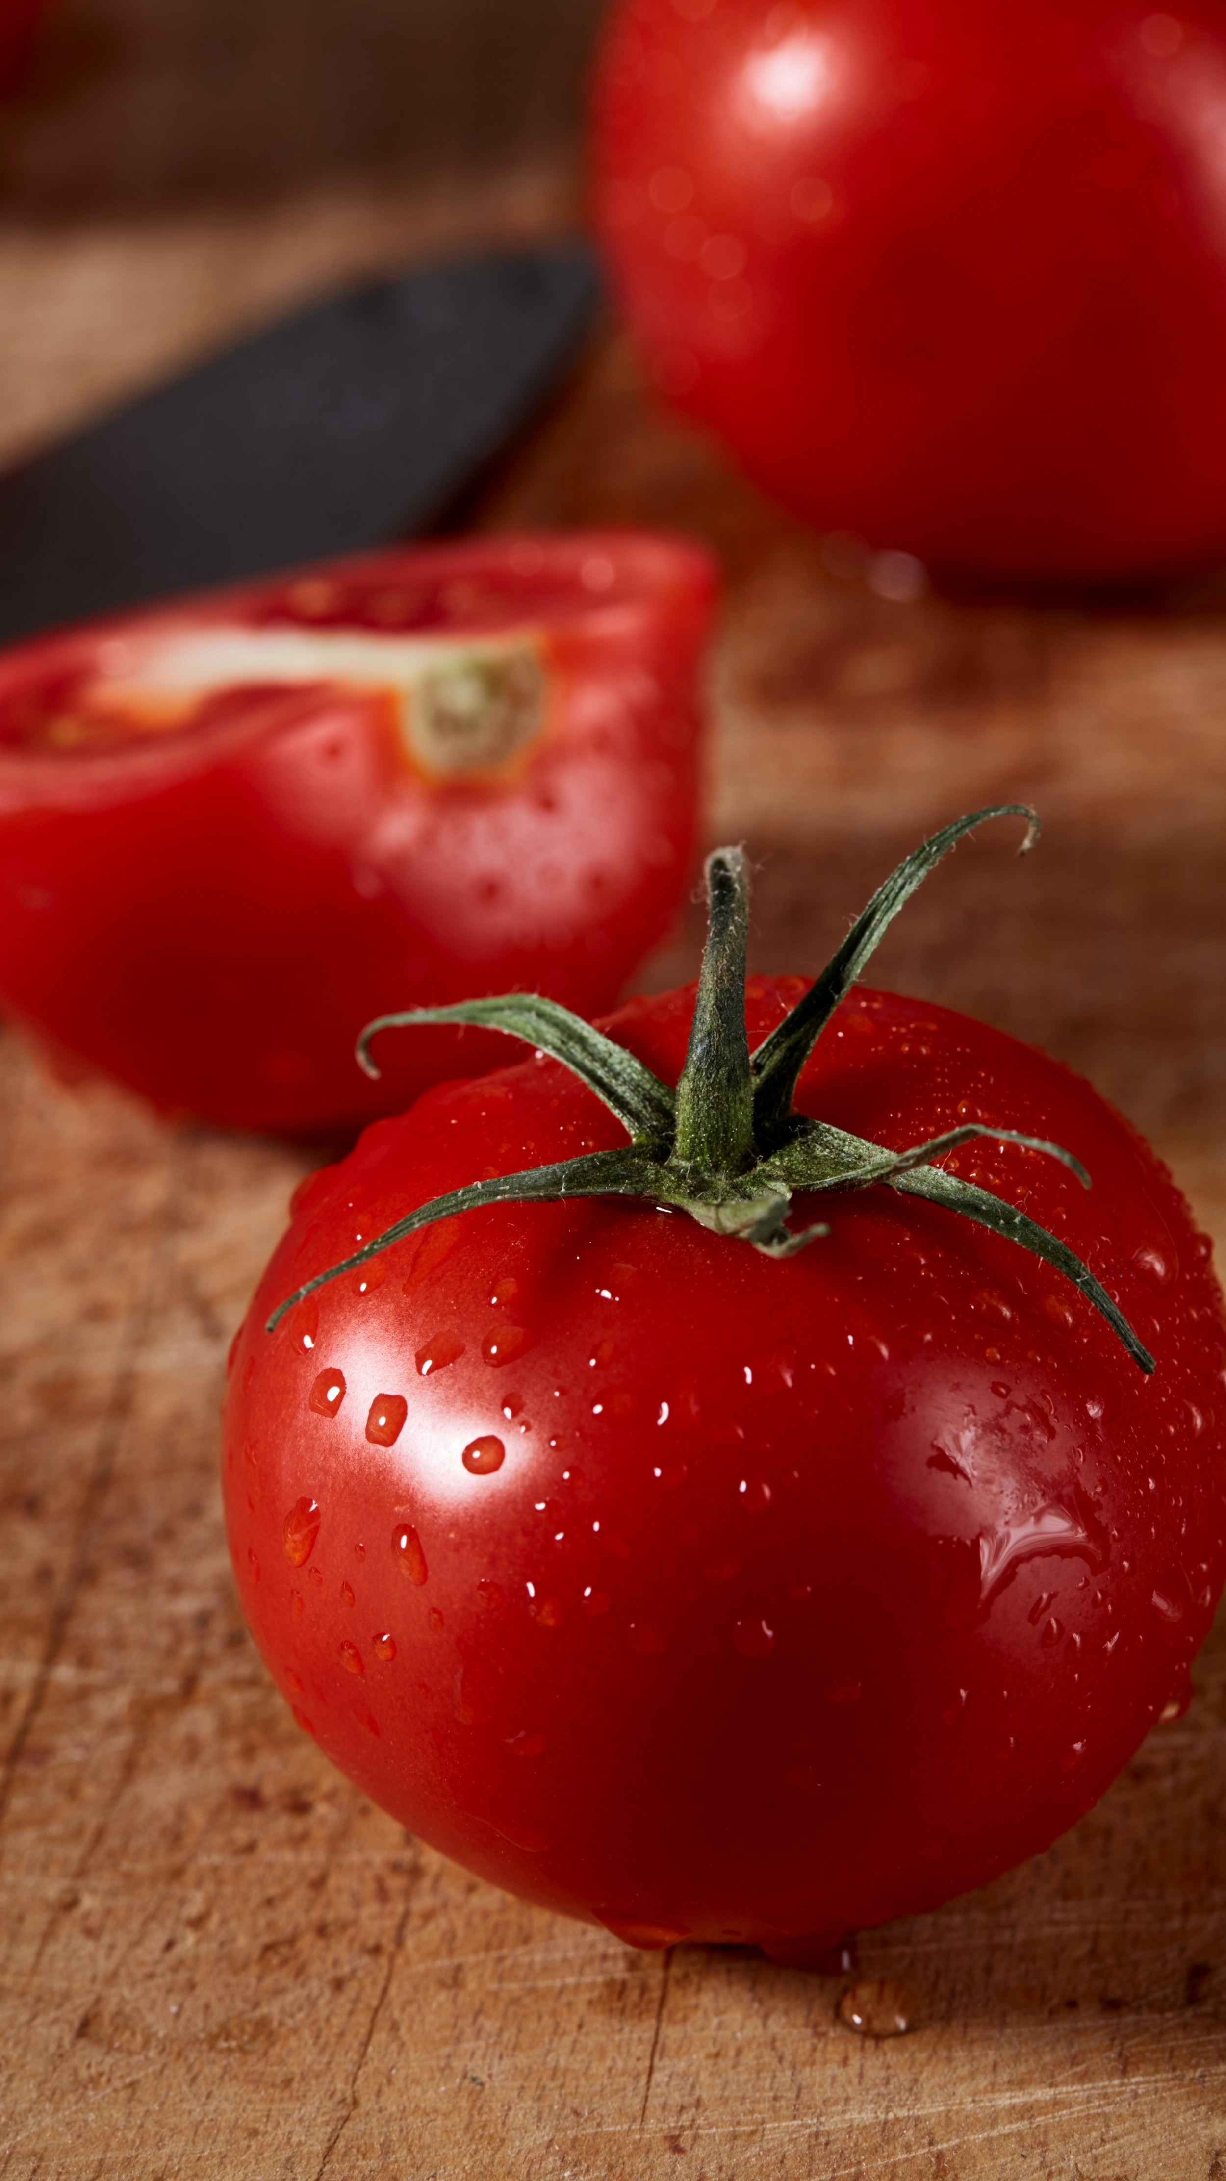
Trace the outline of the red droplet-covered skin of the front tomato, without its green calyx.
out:
[[[750,984],[755,1043],[798,990]],[[692,999],[609,1027],[676,1080]],[[1075,1149],[1091,1195],[1014,1147],[958,1171],[1089,1261],[1156,1376],[1025,1252],[886,1189],[825,1200],[785,1263],[637,1202],[495,1206],[262,1330],[406,1208],[617,1143],[552,1062],[316,1176],[231,1357],[231,1555],[299,1721],[456,1860],[635,1943],[788,1952],[1045,1847],[1182,1701],[1226,1575],[1222,1293],[1141,1138],[1045,1056],[868,990],[798,1108]]]

